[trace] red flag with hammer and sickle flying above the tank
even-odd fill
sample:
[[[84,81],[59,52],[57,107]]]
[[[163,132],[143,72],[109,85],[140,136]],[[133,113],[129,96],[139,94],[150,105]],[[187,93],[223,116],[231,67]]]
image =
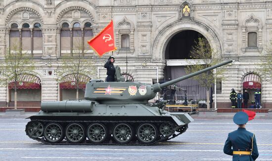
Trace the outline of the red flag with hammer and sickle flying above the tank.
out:
[[[99,34],[89,40],[88,43],[99,56],[102,56],[105,52],[116,50],[112,20]]]

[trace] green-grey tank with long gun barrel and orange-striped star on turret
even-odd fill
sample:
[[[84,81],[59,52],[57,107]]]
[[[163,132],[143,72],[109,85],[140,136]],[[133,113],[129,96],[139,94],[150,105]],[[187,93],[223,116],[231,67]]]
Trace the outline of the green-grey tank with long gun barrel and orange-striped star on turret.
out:
[[[124,81],[116,67],[116,81],[91,80],[85,99],[42,102],[41,111],[27,119],[26,134],[46,144],[148,145],[167,141],[186,131],[193,119],[169,113],[167,101],[150,103],[163,87],[231,63],[153,85]]]

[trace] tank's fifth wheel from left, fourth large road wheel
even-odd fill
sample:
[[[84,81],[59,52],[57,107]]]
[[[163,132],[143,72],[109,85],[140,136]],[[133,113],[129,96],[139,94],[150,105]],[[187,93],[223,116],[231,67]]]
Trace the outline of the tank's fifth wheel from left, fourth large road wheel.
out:
[[[129,143],[134,135],[132,126],[127,123],[119,123],[113,130],[113,139],[119,144]]]

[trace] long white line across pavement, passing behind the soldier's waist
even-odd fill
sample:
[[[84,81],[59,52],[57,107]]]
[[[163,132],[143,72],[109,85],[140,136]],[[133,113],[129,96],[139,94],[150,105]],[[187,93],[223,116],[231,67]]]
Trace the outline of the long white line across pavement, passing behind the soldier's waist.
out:
[[[93,151],[169,151],[169,152],[221,152],[222,150],[191,150],[191,149],[93,149],[93,148],[0,148],[0,150],[93,150]],[[259,150],[259,152],[272,152],[272,150]]]

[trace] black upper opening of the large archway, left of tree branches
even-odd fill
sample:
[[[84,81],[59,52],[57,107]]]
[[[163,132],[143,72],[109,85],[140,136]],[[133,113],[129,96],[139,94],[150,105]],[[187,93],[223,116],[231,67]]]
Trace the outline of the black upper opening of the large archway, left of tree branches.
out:
[[[190,59],[190,50],[204,36],[193,30],[185,30],[176,34],[167,44],[165,59]]]

